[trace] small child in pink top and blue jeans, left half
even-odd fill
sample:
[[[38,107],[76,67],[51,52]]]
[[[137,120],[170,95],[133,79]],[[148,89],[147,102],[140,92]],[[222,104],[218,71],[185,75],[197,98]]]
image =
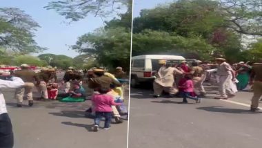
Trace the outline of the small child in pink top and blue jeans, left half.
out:
[[[99,94],[94,94],[91,98],[94,104],[94,131],[99,130],[99,122],[102,117],[105,118],[104,129],[110,128],[111,118],[112,118],[112,105],[121,105],[121,103],[115,103],[114,98],[108,95],[108,89],[101,88],[98,90]]]

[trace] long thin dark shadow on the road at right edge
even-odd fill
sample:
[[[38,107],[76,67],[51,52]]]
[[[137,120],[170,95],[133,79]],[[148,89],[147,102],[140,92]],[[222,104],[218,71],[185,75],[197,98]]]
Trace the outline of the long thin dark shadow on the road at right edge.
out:
[[[241,114],[254,114],[248,109],[229,109],[224,108],[221,106],[214,106],[214,107],[197,107],[196,109],[204,110],[204,111],[211,111],[216,113],[241,113]],[[262,113],[260,111],[256,113]]]

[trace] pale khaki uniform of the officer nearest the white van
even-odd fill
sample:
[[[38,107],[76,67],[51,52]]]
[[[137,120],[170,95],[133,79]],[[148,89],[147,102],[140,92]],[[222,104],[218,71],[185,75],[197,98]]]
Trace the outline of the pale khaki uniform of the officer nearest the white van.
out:
[[[174,82],[174,75],[181,75],[183,72],[179,71],[177,68],[162,66],[159,68],[157,73],[157,78],[154,80],[154,95],[161,95],[163,91],[174,95],[178,92],[177,84]]]

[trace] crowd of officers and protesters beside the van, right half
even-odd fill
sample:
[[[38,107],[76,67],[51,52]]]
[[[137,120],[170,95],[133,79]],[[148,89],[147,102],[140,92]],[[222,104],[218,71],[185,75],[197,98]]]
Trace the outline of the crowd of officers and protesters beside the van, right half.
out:
[[[203,82],[214,77],[219,86],[219,96],[215,99],[227,100],[238,91],[252,86],[254,97],[250,111],[257,111],[262,95],[262,64],[239,62],[230,65],[223,58],[216,58],[215,61],[194,61],[189,65],[186,61],[172,64],[167,60],[159,60],[161,68],[155,75],[154,97],[158,98],[165,91],[171,96],[183,98],[183,103],[188,103],[187,98],[200,103],[206,95]]]

